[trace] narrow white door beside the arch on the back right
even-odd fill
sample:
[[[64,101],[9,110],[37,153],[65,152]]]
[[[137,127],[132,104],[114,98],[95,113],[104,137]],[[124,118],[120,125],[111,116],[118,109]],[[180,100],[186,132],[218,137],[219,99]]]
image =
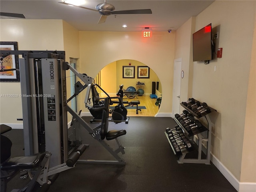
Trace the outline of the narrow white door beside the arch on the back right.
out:
[[[180,114],[181,58],[174,60],[172,116]]]

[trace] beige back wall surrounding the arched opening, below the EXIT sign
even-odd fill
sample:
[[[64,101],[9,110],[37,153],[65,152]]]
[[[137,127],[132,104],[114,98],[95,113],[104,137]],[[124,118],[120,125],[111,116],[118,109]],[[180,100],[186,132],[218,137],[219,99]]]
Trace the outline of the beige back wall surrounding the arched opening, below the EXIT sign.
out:
[[[95,77],[107,64],[123,59],[142,62],[154,70],[162,83],[164,105],[159,112],[171,113],[175,32],[153,32],[150,39],[142,39],[140,32],[79,33],[82,73]],[[84,96],[85,93],[79,97],[83,112],[87,111]]]

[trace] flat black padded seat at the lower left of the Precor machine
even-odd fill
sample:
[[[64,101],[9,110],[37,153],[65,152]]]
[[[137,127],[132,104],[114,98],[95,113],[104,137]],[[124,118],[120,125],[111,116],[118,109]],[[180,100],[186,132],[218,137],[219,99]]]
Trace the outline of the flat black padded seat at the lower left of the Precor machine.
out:
[[[44,159],[46,152],[37,153],[30,156],[14,157],[4,162],[1,170],[11,169],[31,169],[39,166]]]

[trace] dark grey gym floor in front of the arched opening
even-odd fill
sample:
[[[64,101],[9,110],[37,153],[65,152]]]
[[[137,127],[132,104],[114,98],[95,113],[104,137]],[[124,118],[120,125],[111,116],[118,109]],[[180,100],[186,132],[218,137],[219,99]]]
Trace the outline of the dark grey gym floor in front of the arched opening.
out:
[[[126,165],[76,164],[75,168],[61,172],[48,191],[236,192],[213,164],[177,163],[178,156],[173,154],[164,134],[166,127],[174,126],[172,118],[130,117],[128,124],[110,122],[109,130],[127,131],[126,135],[119,137],[121,144],[126,147],[126,153],[121,154]],[[12,130],[4,135],[13,142],[12,156],[22,156],[22,130]],[[82,130],[82,140],[90,146],[80,158],[112,160],[112,156],[85,129]],[[110,146],[115,144],[113,141],[107,142]],[[26,182],[28,179],[22,180],[16,176],[9,182],[8,192]]]

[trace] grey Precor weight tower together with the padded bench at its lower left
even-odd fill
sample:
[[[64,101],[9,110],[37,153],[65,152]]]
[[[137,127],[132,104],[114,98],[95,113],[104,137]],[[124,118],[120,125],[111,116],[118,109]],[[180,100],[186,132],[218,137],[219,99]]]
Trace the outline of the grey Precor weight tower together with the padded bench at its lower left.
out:
[[[1,60],[10,54],[23,57],[19,65],[25,156],[1,162],[1,181],[6,186],[17,170],[25,169],[31,181],[22,191],[31,191],[36,182],[49,185],[50,177],[73,168],[86,146],[68,150],[65,52],[1,51]],[[1,183],[1,190],[4,186]]]

